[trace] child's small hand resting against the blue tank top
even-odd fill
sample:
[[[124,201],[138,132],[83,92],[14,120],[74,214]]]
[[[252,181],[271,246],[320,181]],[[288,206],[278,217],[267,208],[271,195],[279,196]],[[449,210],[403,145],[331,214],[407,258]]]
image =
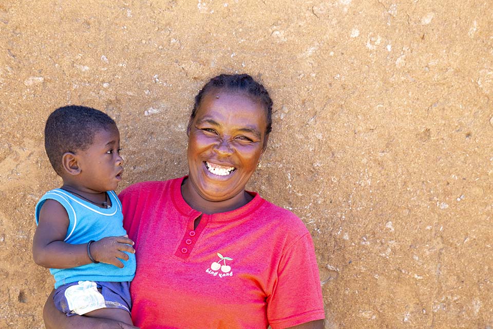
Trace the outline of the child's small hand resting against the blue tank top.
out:
[[[91,243],[90,252],[95,261],[122,268],[120,259],[128,260],[128,255],[123,251],[135,253],[133,245],[134,242],[128,239],[128,235],[108,236]]]

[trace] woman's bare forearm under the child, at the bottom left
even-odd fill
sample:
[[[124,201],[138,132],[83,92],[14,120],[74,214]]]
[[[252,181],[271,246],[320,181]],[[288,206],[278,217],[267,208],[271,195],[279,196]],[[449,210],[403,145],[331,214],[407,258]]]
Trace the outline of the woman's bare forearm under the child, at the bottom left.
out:
[[[46,300],[43,308],[43,320],[46,329],[139,329],[130,324],[101,318],[89,318],[80,315],[67,317],[64,313],[55,308],[53,294]]]

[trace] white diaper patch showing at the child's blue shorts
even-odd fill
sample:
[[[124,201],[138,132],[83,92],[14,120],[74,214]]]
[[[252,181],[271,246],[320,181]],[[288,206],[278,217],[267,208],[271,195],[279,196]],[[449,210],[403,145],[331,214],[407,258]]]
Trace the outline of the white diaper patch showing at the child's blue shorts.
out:
[[[65,298],[72,313],[79,315],[106,307],[103,295],[98,291],[96,282],[92,281],[79,281],[79,284],[68,287]]]

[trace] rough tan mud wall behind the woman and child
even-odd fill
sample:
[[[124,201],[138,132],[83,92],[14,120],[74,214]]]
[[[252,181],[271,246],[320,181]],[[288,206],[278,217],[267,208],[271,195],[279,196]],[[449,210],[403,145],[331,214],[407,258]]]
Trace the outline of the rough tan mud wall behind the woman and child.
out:
[[[274,99],[251,180],[312,233],[326,328],[493,327],[491,1],[0,2],[0,327],[43,328],[33,209],[65,104],[120,127],[124,188],[186,174],[193,97]],[[301,266],[301,265],[300,265]]]

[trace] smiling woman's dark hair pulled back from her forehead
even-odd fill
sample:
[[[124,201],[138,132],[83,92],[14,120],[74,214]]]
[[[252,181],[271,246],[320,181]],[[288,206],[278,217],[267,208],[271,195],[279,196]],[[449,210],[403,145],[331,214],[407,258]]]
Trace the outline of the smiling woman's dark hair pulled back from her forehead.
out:
[[[197,109],[200,106],[202,97],[210,92],[211,90],[228,90],[232,92],[244,92],[248,96],[254,98],[256,101],[261,103],[266,110],[267,117],[267,129],[266,136],[272,130],[272,99],[269,96],[266,88],[263,85],[255,81],[248,74],[221,74],[217,77],[212,78],[207,82],[200,92],[195,96],[195,104],[192,114],[190,115],[190,122],[197,115]]]

